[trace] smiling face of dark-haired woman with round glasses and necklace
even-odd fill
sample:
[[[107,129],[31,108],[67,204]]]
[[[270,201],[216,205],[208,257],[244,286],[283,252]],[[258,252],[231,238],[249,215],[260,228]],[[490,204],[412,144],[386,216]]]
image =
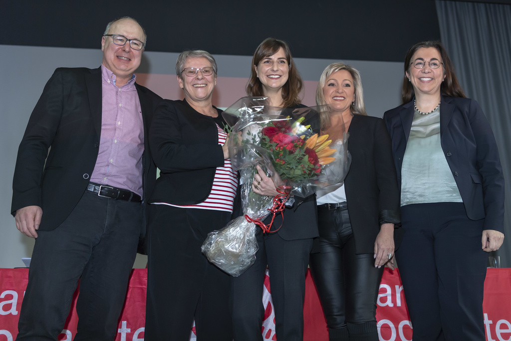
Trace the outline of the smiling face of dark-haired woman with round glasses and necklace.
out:
[[[410,64],[406,72],[406,77],[412,83],[415,95],[440,96],[440,85],[445,78],[444,65],[440,64],[438,69],[431,69],[429,66],[430,61],[442,62],[440,52],[435,48],[420,48],[413,54],[411,62],[413,63],[416,59],[425,61],[423,68],[416,69]]]

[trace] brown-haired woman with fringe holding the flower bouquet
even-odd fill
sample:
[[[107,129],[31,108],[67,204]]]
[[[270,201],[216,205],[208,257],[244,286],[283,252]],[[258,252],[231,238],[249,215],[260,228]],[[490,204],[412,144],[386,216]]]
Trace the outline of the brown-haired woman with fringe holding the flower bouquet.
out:
[[[296,70],[287,43],[268,38],[252,59],[252,72],[247,84],[248,96],[265,96],[271,106],[304,107],[298,94],[302,81]],[[258,166],[252,190],[260,195],[275,196],[271,178]],[[305,275],[312,248],[317,237],[315,196],[294,197],[294,204],[284,209],[273,221],[273,233],[257,227],[259,251],[255,263],[240,277],[233,278],[233,329],[235,341],[263,340],[261,330],[264,316],[262,304],[266,267],[270,271],[271,295],[275,312],[278,340],[302,340],[304,329]],[[271,216],[265,219],[268,224]],[[279,228],[280,227],[280,228]]]

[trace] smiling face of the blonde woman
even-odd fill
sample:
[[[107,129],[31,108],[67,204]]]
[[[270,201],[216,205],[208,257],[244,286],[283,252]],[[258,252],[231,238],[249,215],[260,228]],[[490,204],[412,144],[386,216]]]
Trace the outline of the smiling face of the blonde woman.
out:
[[[350,110],[350,106],[355,100],[354,94],[353,77],[347,70],[334,72],[327,77],[327,81],[323,85],[325,101],[341,112]]]

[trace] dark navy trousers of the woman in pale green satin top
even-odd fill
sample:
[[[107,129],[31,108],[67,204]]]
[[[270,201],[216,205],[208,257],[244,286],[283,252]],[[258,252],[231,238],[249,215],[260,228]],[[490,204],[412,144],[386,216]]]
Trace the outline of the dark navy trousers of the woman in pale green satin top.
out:
[[[413,341],[483,341],[484,219],[470,220],[461,202],[406,205],[401,218],[396,257]]]

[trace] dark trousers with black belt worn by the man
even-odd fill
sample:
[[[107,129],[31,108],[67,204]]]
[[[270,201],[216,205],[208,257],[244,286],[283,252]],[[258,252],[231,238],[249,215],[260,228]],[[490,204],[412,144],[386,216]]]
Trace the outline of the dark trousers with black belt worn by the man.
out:
[[[85,192],[60,226],[38,231],[16,339],[57,340],[80,280],[74,340],[113,340],[141,228],[140,202]]]

